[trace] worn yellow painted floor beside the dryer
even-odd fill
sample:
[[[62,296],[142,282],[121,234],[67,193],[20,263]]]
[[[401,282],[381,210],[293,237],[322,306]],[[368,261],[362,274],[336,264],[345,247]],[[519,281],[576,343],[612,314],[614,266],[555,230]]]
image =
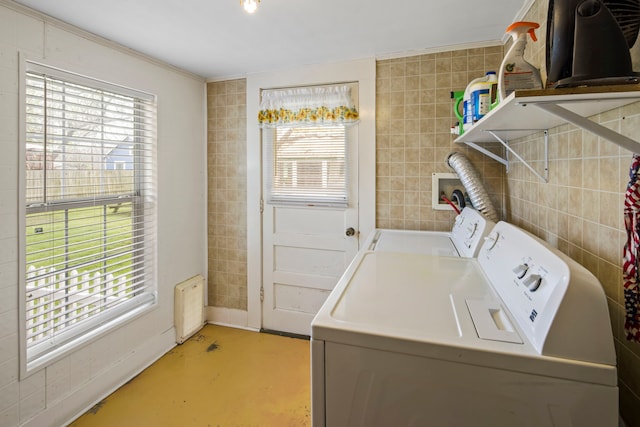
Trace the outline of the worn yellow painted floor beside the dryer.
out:
[[[213,325],[71,424],[310,425],[309,341]]]

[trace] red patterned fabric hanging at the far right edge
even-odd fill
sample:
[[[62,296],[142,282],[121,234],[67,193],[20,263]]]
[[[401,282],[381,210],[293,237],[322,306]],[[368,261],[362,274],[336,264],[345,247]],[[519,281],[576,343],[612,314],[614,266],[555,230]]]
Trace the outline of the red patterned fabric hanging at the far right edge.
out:
[[[640,289],[638,284],[640,250],[640,157],[633,155],[629,169],[629,185],[624,199],[624,225],[627,241],[624,245],[622,277],[624,281],[625,323],[624,330],[629,341],[640,342]]]

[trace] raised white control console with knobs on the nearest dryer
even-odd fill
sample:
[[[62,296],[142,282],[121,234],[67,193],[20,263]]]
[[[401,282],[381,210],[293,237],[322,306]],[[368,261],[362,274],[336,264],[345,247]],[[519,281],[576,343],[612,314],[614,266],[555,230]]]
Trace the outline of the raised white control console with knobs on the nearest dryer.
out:
[[[584,267],[505,222],[487,236],[478,262],[540,354],[615,363],[606,297]]]

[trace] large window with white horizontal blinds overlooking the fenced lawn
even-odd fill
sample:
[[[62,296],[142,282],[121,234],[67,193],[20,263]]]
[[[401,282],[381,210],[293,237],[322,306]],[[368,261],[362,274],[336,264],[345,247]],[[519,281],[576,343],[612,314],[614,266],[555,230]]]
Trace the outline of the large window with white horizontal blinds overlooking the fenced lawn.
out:
[[[151,95],[30,62],[24,93],[29,371],[155,303],[156,113]]]

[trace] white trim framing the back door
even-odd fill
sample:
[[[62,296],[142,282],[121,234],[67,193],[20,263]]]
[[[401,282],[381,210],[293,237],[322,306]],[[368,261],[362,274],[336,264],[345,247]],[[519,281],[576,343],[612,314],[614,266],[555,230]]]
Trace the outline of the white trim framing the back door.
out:
[[[366,58],[247,76],[247,324],[262,327],[262,146],[258,128],[260,90],[358,82],[358,181],[360,241],[375,228],[376,61]]]

